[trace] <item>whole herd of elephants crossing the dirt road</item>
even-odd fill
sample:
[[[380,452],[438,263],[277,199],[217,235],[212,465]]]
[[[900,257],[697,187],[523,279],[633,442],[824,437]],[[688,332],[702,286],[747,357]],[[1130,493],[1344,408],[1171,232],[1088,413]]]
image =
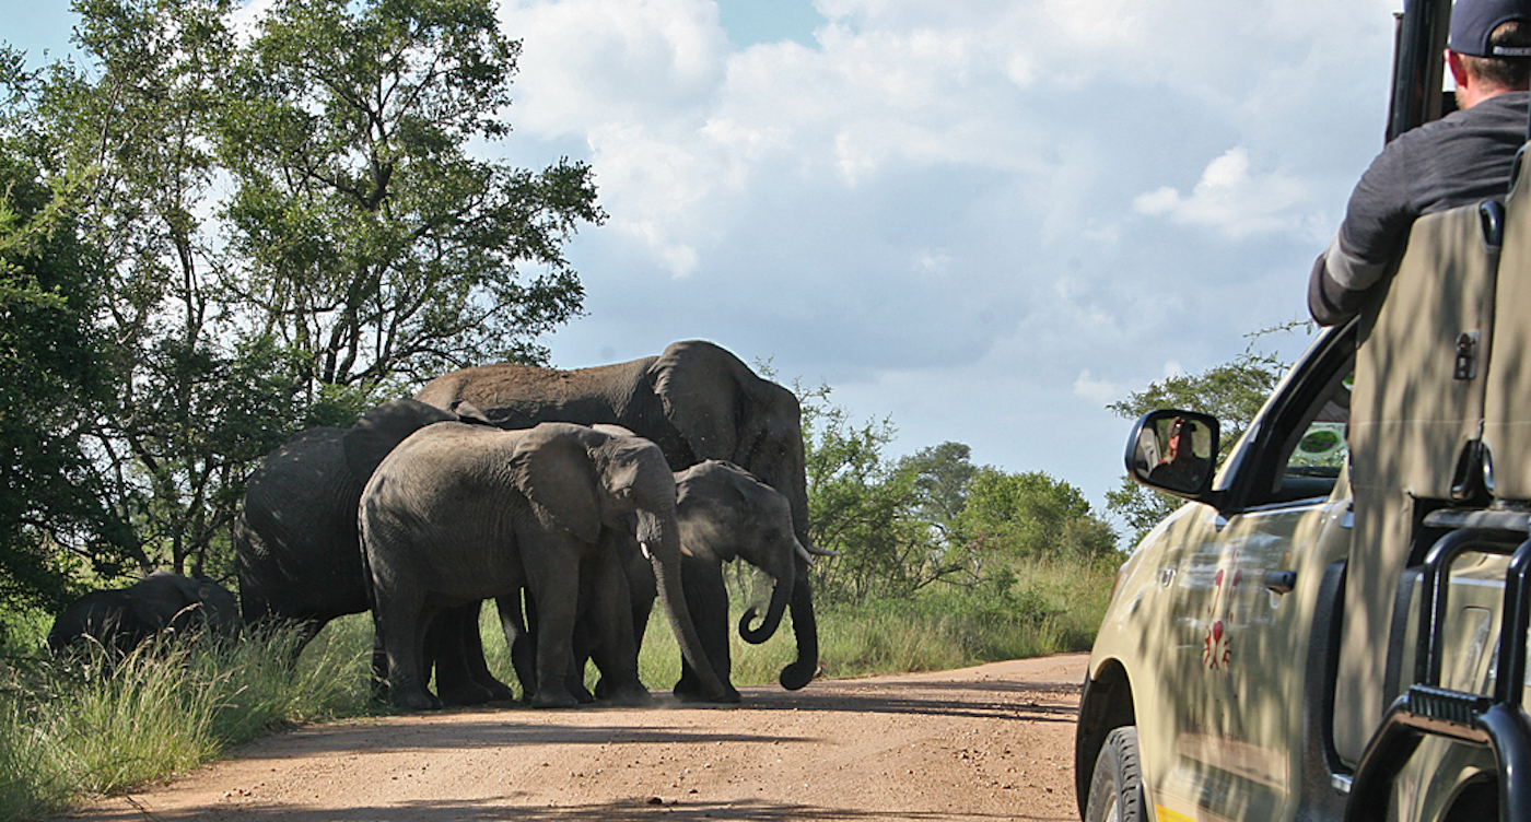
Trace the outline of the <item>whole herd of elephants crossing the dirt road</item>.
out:
[[[819,553],[801,426],[790,390],[706,341],[577,370],[456,370],[262,461],[234,525],[237,603],[205,577],[156,572],[75,600],[49,646],[126,652],[167,629],[291,621],[300,651],[371,611],[389,701],[476,704],[513,696],[484,661],[493,599],[527,701],[631,704],[649,696],[638,647],[657,597],[681,649],[675,695],[738,701],[723,563],[743,557],[773,589],[739,635],[766,641],[790,609],[798,655],[781,684],[799,689],[818,669]]]

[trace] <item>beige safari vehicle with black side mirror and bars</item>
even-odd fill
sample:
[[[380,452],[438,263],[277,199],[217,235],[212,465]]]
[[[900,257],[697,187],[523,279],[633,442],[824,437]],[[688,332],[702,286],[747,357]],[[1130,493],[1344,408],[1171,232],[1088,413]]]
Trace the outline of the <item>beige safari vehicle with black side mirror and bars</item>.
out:
[[[1401,17],[1393,135],[1439,116],[1448,15]],[[1418,220],[1216,475],[1216,418],[1139,419],[1128,471],[1188,504],[1095,643],[1087,820],[1531,819],[1528,165]]]

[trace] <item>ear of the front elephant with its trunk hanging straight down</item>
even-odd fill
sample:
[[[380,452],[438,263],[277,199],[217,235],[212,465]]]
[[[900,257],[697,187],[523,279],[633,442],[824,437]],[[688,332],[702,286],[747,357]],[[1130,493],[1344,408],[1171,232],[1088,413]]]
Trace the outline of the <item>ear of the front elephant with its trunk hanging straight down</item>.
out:
[[[516,488],[582,542],[600,539],[600,476],[591,438],[570,422],[542,422],[525,432],[510,455]]]

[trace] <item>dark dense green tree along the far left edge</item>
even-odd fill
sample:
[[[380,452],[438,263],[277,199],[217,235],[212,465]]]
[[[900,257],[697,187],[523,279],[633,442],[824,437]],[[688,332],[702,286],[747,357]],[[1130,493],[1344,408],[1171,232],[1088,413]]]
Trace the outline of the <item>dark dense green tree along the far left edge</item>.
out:
[[[34,90],[0,49],[8,112]],[[8,124],[9,126],[9,124]],[[43,182],[34,145],[0,136],[0,609],[66,600],[61,553],[113,571],[135,548],[103,504],[84,432],[106,395],[104,340],[92,328],[101,259]],[[0,621],[0,641],[5,623]]]

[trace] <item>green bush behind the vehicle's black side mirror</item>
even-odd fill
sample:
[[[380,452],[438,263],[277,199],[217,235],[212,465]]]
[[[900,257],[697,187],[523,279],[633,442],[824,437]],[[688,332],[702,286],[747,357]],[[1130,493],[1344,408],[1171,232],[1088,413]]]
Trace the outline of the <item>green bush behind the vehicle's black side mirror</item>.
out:
[[[1125,400],[1108,404],[1107,410],[1125,419],[1136,419],[1156,409],[1209,413],[1217,418],[1220,429],[1217,465],[1222,465],[1223,458],[1248,430],[1249,422],[1260,413],[1266,398],[1275,390],[1277,383],[1289,367],[1272,354],[1257,352],[1255,341],[1269,334],[1294,331],[1298,326],[1303,323],[1257,331],[1249,335],[1251,343],[1245,352],[1232,361],[1213,366],[1202,373],[1167,377],[1141,392],[1130,393]],[[1121,485],[1105,493],[1107,510],[1127,522],[1133,543],[1141,542],[1180,502],[1177,497],[1138,485],[1127,476],[1122,476]]]

